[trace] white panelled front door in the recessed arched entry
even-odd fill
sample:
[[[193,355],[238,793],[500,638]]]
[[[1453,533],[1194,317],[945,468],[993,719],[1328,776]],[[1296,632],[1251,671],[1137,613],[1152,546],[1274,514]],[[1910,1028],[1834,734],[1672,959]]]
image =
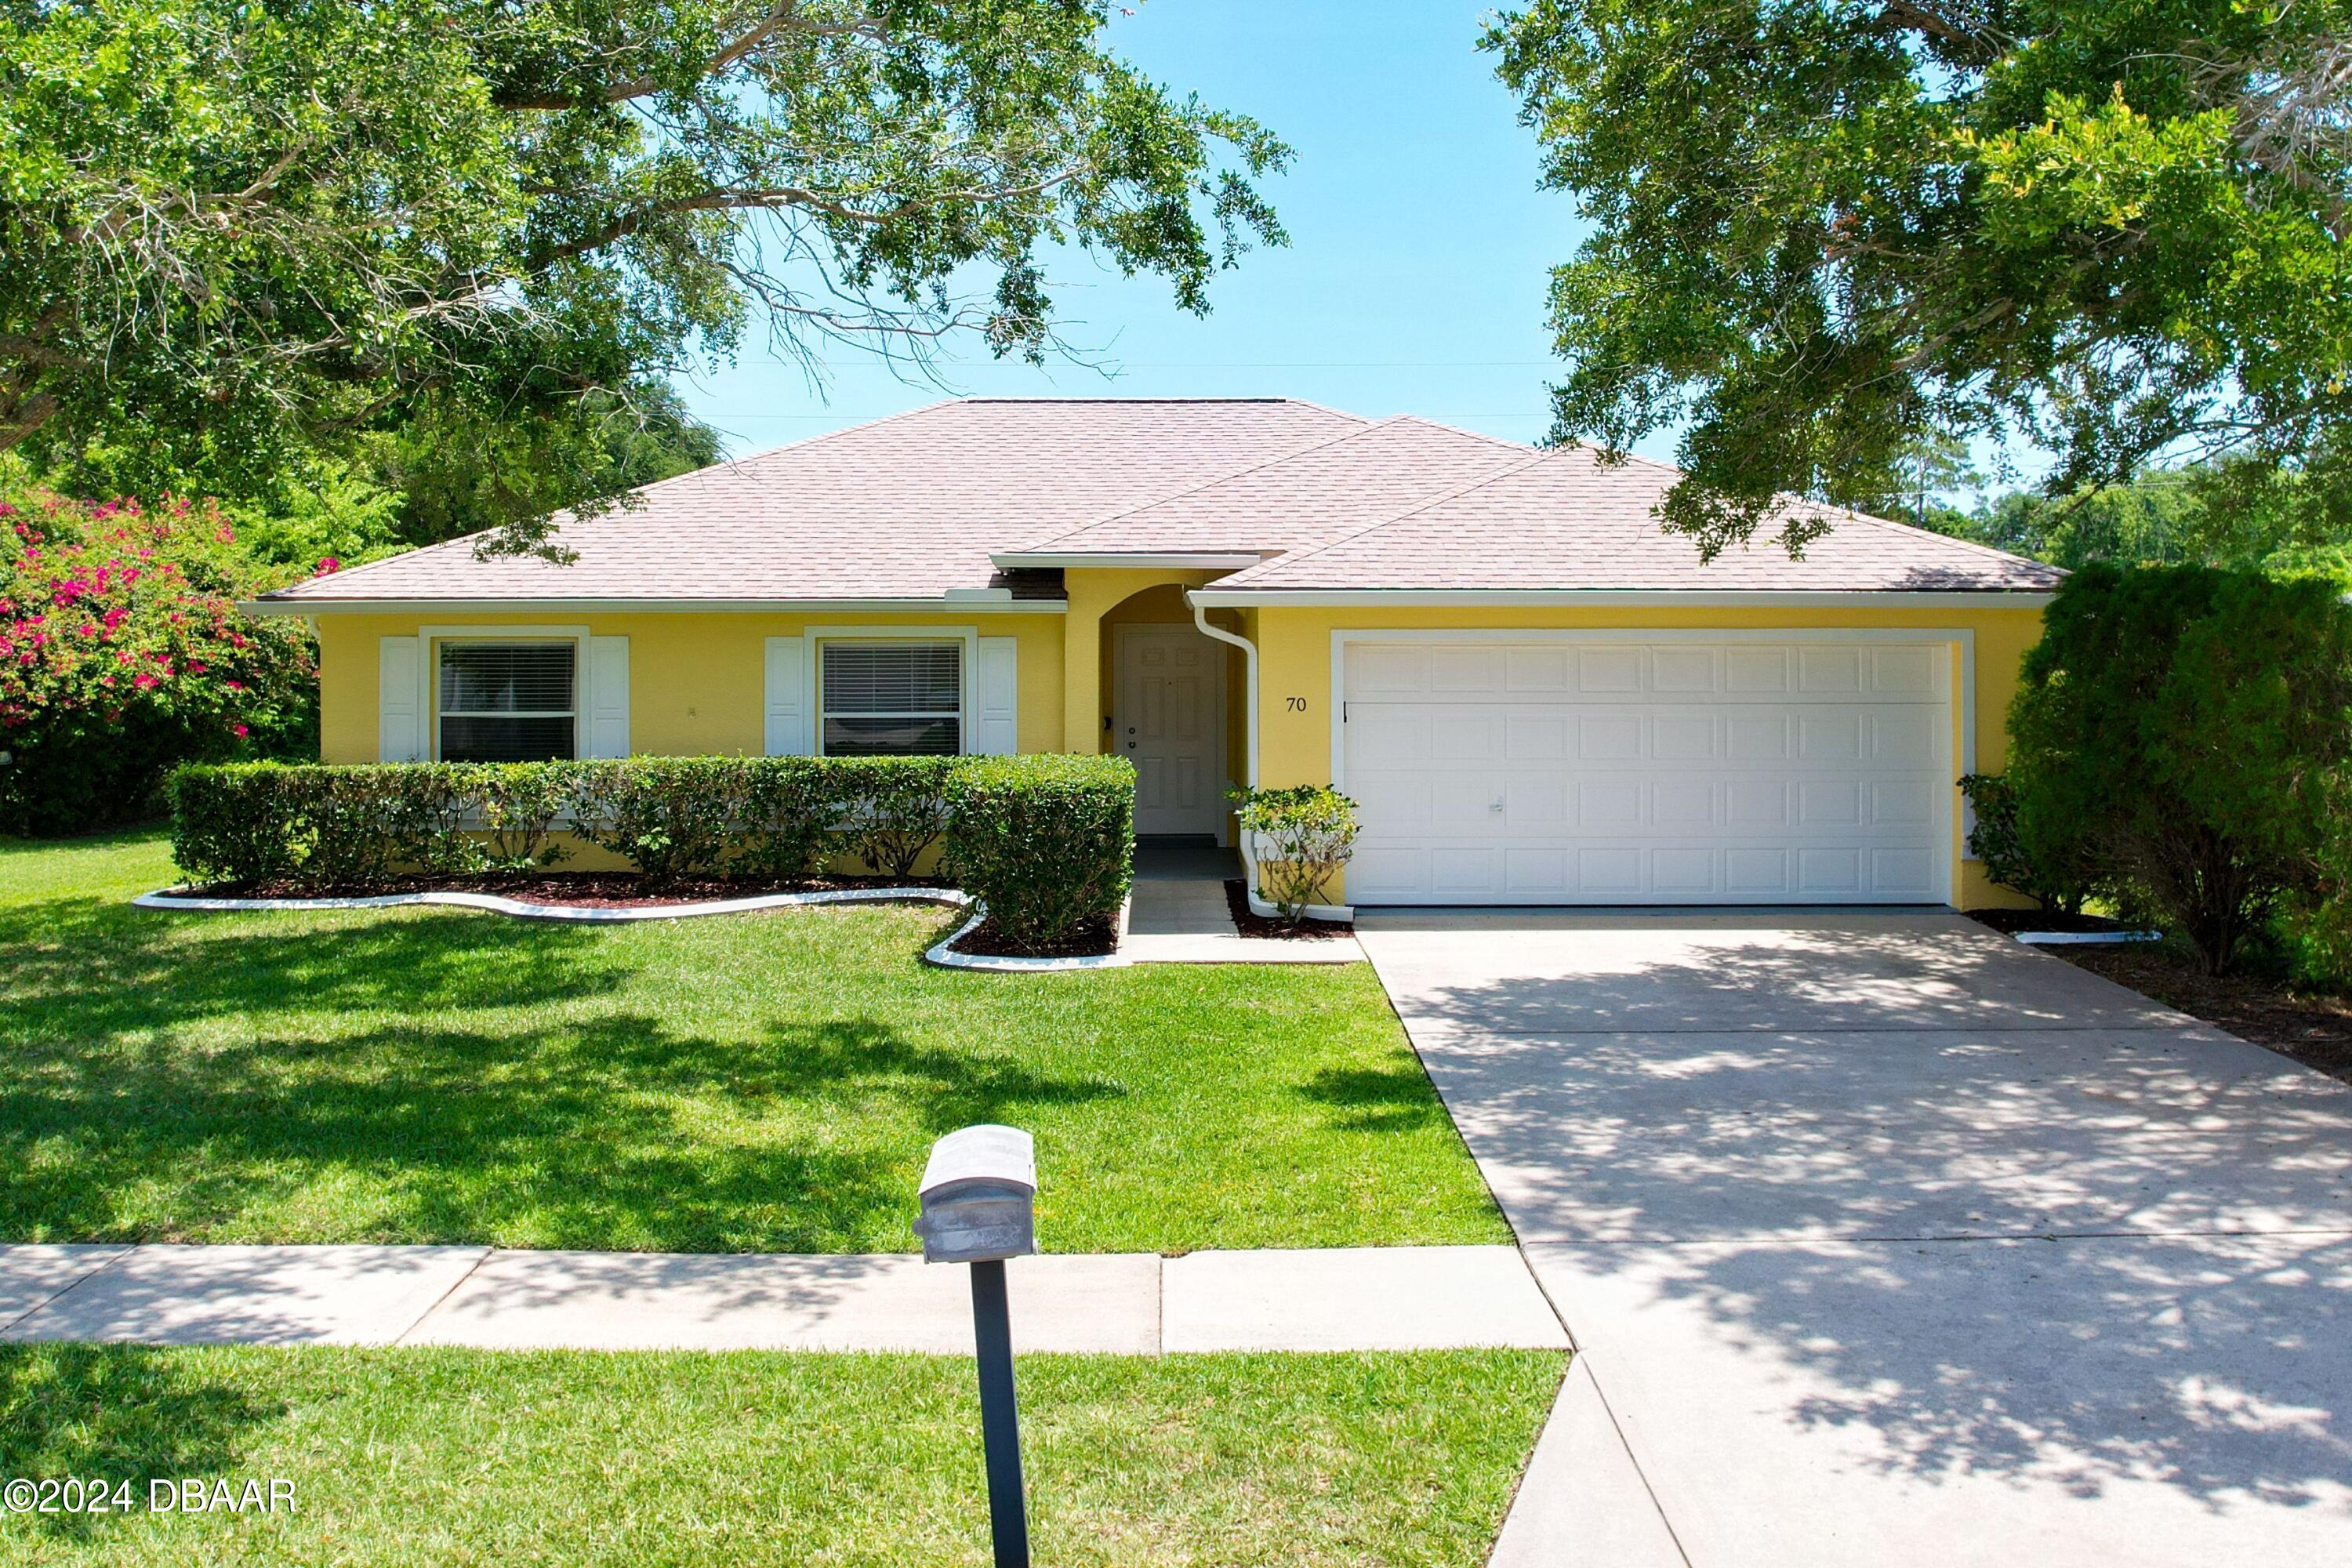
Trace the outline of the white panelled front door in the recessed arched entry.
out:
[[[1117,752],[1136,764],[1136,832],[1225,823],[1225,649],[1190,625],[1117,630]]]

